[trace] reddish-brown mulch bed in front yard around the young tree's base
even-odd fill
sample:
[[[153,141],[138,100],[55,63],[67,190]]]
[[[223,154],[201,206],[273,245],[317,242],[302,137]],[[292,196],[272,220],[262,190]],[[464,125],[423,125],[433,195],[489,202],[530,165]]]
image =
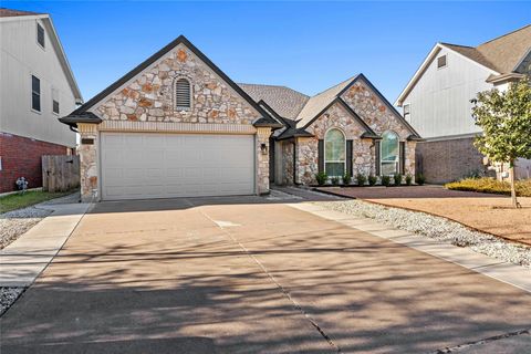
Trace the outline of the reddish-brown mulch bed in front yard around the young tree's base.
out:
[[[480,231],[531,246],[531,198],[521,209],[507,196],[448,190],[441,186],[321,187],[319,190],[441,216]]]

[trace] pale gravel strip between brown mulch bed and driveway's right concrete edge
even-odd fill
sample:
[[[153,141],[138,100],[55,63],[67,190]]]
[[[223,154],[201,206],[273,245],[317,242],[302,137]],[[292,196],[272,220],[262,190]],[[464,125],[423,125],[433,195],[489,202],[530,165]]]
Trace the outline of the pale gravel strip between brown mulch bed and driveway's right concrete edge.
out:
[[[469,247],[476,252],[531,269],[531,247],[516,244],[487,233],[472,231],[445,218],[362,200],[319,202],[319,205],[331,210],[375,219],[394,228],[441,242]]]

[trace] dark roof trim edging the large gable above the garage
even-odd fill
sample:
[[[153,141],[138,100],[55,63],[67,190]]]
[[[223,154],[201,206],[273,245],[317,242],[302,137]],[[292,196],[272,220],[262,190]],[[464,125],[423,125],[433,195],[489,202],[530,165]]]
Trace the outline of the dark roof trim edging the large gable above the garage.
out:
[[[104,102],[107,97],[115,94],[124,85],[133,81],[135,77],[144,73],[146,70],[156,64],[167,53],[171,52],[174,49],[180,44],[185,45],[194,55],[196,55],[202,63],[205,63],[214,73],[216,73],[223,82],[226,82],[239,96],[241,96],[252,108],[254,108],[261,117],[253,122],[257,126],[280,126],[280,124],[273,119],[258,103],[256,103],[241,87],[239,87],[232,80],[230,80],[218,66],[216,66],[205,54],[202,54],[191,42],[189,42],[184,35],[178,37],[176,40],[171,41],[169,44],[160,49],[158,52],[149,56],[147,60],[142,62],[135,69],[129,71],[127,74],[115,81],[108,87],[100,92],[93,98],[87,101],[84,105],[72,112],[69,116],[61,118],[61,122],[65,124],[75,125],[76,118],[88,110],[94,110],[98,104]],[[86,122],[84,122],[86,123]],[[94,122],[98,123],[98,122]]]

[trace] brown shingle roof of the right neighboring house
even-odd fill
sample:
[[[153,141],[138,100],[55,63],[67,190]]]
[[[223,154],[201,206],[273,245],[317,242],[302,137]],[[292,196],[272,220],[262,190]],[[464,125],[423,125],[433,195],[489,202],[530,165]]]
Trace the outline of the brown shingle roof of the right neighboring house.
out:
[[[510,73],[531,49],[531,24],[476,48],[441,44],[501,74]]]

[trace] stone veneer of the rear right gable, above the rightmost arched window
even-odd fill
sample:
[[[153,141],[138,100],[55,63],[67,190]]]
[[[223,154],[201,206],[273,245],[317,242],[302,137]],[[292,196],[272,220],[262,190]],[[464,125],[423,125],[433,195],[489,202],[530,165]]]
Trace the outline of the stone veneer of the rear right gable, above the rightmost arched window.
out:
[[[348,106],[360,115],[364,122],[378,135],[386,131],[398,134],[402,142],[406,140],[412,132],[396,116],[397,113],[389,110],[387,104],[379,98],[363,80],[356,81],[341,96]],[[374,165],[374,164],[373,164]],[[415,176],[415,142],[406,144],[406,173]]]

